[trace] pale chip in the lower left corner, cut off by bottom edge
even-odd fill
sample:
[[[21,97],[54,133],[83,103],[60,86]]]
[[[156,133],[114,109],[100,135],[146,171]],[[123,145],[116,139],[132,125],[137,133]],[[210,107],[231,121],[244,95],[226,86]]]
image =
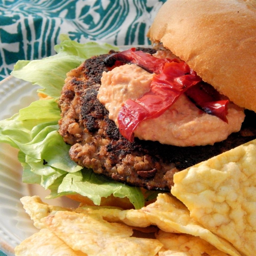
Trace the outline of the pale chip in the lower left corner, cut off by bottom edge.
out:
[[[15,247],[16,256],[86,256],[74,251],[50,230],[42,229]]]

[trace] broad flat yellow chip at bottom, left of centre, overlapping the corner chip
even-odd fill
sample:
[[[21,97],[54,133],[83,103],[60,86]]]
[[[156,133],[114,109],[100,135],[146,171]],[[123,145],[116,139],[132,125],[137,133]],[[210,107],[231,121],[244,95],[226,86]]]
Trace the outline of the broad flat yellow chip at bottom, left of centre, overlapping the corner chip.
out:
[[[42,221],[73,250],[81,250],[89,256],[155,256],[162,247],[157,239],[131,237],[131,227],[110,223],[98,214],[56,212]]]

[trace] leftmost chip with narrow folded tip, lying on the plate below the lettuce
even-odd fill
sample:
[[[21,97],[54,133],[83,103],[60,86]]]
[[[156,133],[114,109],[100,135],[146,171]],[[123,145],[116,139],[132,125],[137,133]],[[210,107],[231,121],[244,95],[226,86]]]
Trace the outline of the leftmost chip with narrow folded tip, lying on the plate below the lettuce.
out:
[[[38,229],[45,228],[44,224],[41,222],[41,218],[57,211],[71,211],[71,209],[59,206],[50,206],[44,203],[37,195],[31,197],[25,196],[21,198],[20,201],[23,204],[23,208],[26,210],[26,213],[34,221],[34,226]]]

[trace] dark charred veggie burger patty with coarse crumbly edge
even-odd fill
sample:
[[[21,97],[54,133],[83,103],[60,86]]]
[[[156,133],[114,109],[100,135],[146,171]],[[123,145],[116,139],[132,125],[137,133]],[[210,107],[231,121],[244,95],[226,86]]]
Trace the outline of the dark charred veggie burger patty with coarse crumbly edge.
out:
[[[151,48],[136,50],[155,52]],[[251,117],[255,113],[246,111],[241,130],[214,145],[177,147],[137,138],[129,142],[97,99],[102,72],[109,70],[104,62],[107,56],[87,59],[67,73],[59,100],[59,133],[72,145],[70,157],[80,166],[132,186],[167,192],[175,172],[256,138],[255,117]]]

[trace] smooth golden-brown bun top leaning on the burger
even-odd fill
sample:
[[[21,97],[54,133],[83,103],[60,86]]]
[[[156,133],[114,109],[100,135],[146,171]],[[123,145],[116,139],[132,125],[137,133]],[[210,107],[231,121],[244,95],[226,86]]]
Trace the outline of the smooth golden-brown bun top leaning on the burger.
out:
[[[148,37],[256,112],[256,0],[168,0]]]

